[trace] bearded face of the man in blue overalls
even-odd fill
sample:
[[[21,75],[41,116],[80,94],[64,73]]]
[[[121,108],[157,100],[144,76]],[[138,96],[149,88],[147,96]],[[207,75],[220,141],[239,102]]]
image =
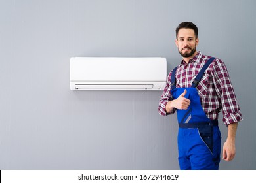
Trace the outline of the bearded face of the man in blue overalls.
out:
[[[198,45],[198,38],[193,29],[180,29],[175,40],[178,51],[183,58],[190,58],[196,55],[196,45]]]

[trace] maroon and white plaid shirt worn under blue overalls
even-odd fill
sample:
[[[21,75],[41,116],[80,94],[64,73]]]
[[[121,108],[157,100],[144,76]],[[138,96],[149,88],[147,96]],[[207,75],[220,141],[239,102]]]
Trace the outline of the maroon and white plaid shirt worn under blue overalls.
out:
[[[179,65],[176,71],[176,87],[191,87],[194,78],[209,58],[209,56],[198,52],[193,59],[190,59],[188,64],[182,60],[181,65]],[[167,77],[167,83],[158,106],[158,112],[163,116],[168,115],[165,108],[166,104],[173,100],[170,92],[171,73],[172,71]],[[198,90],[202,108],[209,119],[217,119],[222,109],[225,125],[242,120],[242,114],[228,75],[228,70],[221,59],[215,59],[209,65],[198,86],[196,86],[196,90]],[[173,113],[175,113],[175,110],[171,112],[171,114]]]

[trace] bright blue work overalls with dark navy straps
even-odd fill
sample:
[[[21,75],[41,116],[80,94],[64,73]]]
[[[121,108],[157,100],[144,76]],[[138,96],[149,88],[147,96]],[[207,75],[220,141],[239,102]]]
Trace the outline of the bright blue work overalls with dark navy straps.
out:
[[[177,99],[186,89],[184,97],[190,99],[186,110],[177,109],[179,122],[178,149],[180,169],[219,169],[221,132],[218,120],[210,120],[203,111],[196,90],[203,73],[215,58],[210,58],[200,70],[190,88],[176,88],[175,73],[171,75],[171,94]]]

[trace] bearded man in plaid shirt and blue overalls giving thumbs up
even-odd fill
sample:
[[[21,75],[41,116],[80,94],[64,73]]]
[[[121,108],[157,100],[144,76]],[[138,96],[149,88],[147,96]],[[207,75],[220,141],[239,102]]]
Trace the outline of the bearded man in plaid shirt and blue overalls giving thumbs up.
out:
[[[196,25],[179,24],[175,43],[182,61],[167,77],[158,112],[166,116],[177,111],[181,169],[219,169],[218,114],[222,109],[228,127],[222,154],[225,161],[231,161],[236,154],[236,129],[242,114],[223,61],[197,52],[198,42]]]

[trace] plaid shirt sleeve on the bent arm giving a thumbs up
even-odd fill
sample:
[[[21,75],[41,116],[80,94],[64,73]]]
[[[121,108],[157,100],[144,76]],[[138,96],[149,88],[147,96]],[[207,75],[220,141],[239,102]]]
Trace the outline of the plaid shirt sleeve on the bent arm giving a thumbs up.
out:
[[[171,73],[172,71],[167,76],[166,86],[165,89],[163,90],[163,94],[161,95],[161,99],[158,105],[158,113],[161,116],[167,116],[169,114],[175,113],[175,109],[171,111],[171,113],[166,112],[167,103],[173,99],[173,96],[171,95]]]

